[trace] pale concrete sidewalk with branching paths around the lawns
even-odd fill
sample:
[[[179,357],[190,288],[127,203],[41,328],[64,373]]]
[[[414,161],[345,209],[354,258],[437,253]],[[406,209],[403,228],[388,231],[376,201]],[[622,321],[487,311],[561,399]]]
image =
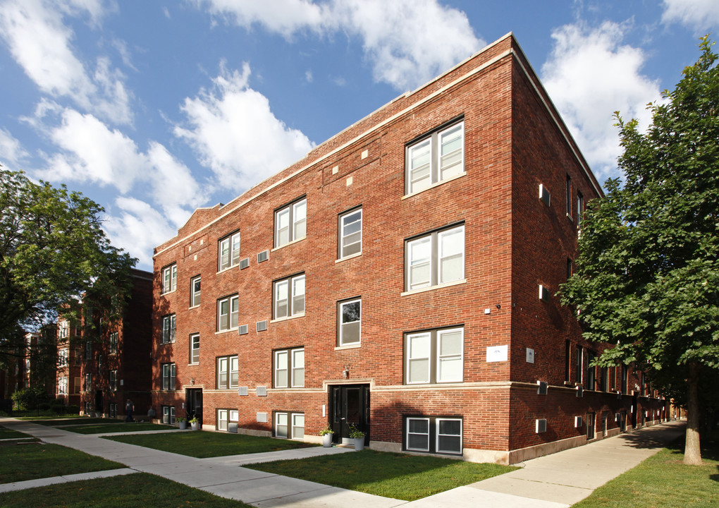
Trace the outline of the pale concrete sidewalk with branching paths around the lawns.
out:
[[[75,434],[32,422],[3,418],[0,419],[0,424],[38,437],[46,443],[75,448],[123,463],[129,468],[115,472],[86,473],[87,475],[111,476],[141,471],[218,496],[238,499],[257,507],[288,508],[344,507],[352,503],[368,508],[569,507],[591,494],[598,486],[654,455],[684,431],[683,422],[645,427],[635,432],[527,461],[521,465],[523,468],[511,473],[441,492],[418,501],[406,502],[241,467],[244,464],[285,458],[354,452],[351,448],[314,447],[249,455],[192,458],[104,440],[99,435]],[[0,492],[83,479],[75,478],[76,476],[78,475],[4,484],[0,485]],[[29,485],[31,482],[32,485]]]

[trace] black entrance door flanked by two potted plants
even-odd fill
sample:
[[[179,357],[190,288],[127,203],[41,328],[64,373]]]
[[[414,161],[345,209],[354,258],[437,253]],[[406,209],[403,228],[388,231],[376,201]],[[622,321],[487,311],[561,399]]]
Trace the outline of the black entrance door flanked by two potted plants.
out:
[[[365,445],[370,441],[370,385],[350,384],[330,387],[331,427],[333,440],[349,439],[352,426],[365,432]]]

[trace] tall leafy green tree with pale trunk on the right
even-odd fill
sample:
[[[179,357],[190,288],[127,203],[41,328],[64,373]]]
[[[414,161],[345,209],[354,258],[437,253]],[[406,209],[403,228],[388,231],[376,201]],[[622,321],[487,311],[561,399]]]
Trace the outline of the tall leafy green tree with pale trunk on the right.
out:
[[[652,104],[646,133],[619,115],[624,173],[582,222],[562,299],[587,339],[616,344],[600,364],[631,363],[687,404],[684,463],[701,464],[702,379],[719,373],[719,70],[713,43]]]

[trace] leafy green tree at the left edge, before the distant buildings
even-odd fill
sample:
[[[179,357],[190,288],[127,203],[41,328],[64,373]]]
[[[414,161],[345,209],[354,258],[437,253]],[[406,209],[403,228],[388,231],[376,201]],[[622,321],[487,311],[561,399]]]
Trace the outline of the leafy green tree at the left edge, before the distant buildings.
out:
[[[0,364],[23,354],[25,332],[60,314],[77,319],[81,298],[122,312],[136,260],[110,244],[102,212],[65,186],[0,167]]]

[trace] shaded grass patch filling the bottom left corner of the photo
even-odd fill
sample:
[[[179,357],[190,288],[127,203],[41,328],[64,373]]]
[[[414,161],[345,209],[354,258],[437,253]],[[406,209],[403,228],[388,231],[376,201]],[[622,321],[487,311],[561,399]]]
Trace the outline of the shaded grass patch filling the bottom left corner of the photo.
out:
[[[13,508],[252,508],[147,473],[6,492],[0,494],[0,504]]]

